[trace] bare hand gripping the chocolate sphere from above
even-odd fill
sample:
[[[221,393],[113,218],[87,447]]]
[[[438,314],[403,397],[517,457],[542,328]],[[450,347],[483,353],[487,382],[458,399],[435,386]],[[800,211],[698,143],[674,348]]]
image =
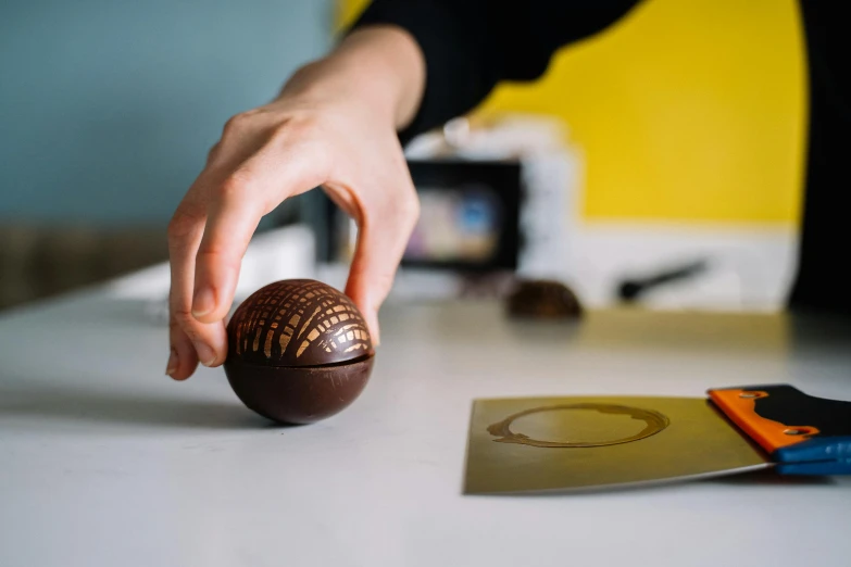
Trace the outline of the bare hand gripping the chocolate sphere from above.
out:
[[[174,379],[188,378],[198,362],[225,361],[225,317],[261,217],[318,186],[358,224],[346,293],[379,342],[378,308],[416,223],[418,201],[396,134],[400,108],[386,85],[364,91],[363,77],[360,84],[347,80],[351,61],[305,67],[277,100],[230,118],[178,205],[168,226],[166,374]]]

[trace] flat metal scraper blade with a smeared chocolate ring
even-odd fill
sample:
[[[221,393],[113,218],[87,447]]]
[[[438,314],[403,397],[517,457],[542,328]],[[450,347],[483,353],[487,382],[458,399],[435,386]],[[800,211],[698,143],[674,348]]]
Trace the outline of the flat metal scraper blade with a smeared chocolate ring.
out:
[[[705,399],[476,400],[464,492],[564,492],[768,466]]]

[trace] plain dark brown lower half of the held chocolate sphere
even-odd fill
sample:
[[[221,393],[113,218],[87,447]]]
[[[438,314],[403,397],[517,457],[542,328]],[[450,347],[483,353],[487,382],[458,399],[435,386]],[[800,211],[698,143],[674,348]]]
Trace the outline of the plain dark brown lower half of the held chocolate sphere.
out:
[[[225,362],[230,388],[246,406],[283,424],[312,424],[348,407],[361,394],[373,369],[368,354],[330,366],[261,366]]]

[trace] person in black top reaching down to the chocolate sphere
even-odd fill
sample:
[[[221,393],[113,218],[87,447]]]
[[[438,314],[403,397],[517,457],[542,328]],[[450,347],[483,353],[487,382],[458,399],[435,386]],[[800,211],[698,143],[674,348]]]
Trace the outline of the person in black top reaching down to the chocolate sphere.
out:
[[[652,0],[643,0],[652,1]],[[185,379],[226,356],[224,318],[260,217],[322,186],[359,225],[346,292],[378,336],[377,311],[416,222],[402,144],[474,109],[501,80],[535,80],[552,54],[620,21],[640,1],[376,0],[326,58],[272,103],[233,117],[170,225],[171,356]],[[851,314],[843,159],[851,52],[839,3],[800,0],[810,87],[796,310]]]

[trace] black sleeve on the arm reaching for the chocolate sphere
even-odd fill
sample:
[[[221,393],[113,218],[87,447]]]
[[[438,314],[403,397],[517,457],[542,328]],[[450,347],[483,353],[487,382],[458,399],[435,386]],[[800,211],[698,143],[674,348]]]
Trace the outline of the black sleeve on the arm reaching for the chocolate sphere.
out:
[[[375,0],[353,28],[395,24],[426,60],[415,135],[465,114],[500,80],[540,77],[561,47],[601,32],[639,0]]]

